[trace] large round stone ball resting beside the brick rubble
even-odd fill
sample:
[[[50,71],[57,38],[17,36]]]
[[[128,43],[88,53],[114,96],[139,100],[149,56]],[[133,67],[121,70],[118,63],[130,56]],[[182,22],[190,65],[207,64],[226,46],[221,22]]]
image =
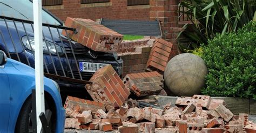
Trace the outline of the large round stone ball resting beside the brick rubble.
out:
[[[164,80],[169,90],[177,96],[200,94],[205,85],[207,68],[203,59],[194,54],[179,54],[166,65]]]

